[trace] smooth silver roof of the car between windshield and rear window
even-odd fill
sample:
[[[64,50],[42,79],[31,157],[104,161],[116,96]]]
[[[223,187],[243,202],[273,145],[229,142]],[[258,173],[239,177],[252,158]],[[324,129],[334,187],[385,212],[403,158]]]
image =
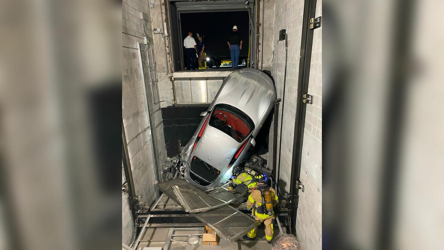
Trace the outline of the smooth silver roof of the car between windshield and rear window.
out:
[[[190,156],[197,156],[222,172],[225,171],[242,143],[238,143],[229,135],[207,125],[205,132]]]

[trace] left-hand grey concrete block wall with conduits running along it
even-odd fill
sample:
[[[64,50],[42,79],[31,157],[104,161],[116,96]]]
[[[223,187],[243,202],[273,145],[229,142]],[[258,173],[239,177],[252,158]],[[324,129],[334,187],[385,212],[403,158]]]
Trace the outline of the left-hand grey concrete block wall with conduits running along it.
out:
[[[159,3],[158,3],[159,4]],[[139,52],[137,43],[141,43],[142,50],[145,50],[143,36],[150,40],[148,46],[155,46],[153,34],[148,29],[152,29],[152,23],[145,23],[146,30],[143,29],[143,22],[140,19],[140,12],[150,13],[149,2],[145,0],[123,0],[122,2],[122,118],[125,135],[127,138],[127,147],[131,163],[131,171],[135,186],[135,194],[140,195],[140,201],[151,204],[156,198],[155,166],[154,160],[159,164],[166,159],[165,142],[163,139],[163,123],[159,105],[154,104],[154,98],[151,93],[150,79],[154,79],[154,74],[148,72],[148,67],[144,67],[144,78],[142,80],[139,66]],[[145,33],[145,34],[144,34]],[[157,47],[156,47],[157,48]],[[142,52],[142,60],[150,63],[148,57],[153,56],[151,50]],[[150,63],[153,67],[153,63]],[[160,72],[160,71],[159,71]],[[154,81],[154,80],[153,80]],[[143,87],[146,88],[144,91]],[[155,91],[155,87],[154,91]],[[147,105],[148,103],[148,110]],[[151,131],[156,151],[160,152],[157,159],[153,159],[153,148],[150,138],[150,120],[148,112],[151,115]],[[165,156],[163,156],[165,155]],[[134,230],[134,221],[132,221],[129,206],[127,204],[126,194],[122,194],[122,237],[127,240]],[[131,223],[131,226],[130,226]]]

